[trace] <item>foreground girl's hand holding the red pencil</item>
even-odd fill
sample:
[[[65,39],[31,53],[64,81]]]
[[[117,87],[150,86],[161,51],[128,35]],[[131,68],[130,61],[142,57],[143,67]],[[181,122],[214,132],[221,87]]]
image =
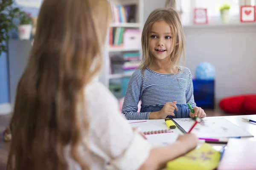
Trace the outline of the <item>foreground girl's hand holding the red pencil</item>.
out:
[[[187,152],[194,149],[198,144],[198,138],[193,133],[186,133],[184,135],[179,135],[177,141],[182,143],[184,147],[187,148]]]

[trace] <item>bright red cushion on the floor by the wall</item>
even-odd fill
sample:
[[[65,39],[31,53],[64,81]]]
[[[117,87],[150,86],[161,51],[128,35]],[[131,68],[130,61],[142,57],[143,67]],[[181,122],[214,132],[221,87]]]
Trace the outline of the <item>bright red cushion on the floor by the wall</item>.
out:
[[[227,113],[256,114],[256,94],[226,97],[219,107]]]

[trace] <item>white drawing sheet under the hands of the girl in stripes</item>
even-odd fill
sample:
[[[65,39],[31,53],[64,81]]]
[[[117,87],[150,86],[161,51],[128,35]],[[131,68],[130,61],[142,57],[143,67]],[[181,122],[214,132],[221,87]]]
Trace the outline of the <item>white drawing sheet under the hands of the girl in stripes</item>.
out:
[[[174,119],[186,132],[194,124],[191,118]],[[204,118],[195,125],[191,133],[199,138],[228,138],[228,137],[253,137],[249,132],[231,123],[225,118]]]

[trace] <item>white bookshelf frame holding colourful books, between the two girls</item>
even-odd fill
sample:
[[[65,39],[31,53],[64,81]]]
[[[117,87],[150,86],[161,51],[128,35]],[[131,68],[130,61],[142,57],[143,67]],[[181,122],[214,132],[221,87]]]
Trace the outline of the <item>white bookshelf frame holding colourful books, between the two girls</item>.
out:
[[[138,28],[142,33],[144,22],[143,22],[143,1],[144,0],[109,0],[111,5],[137,5],[136,9],[136,23],[111,23],[111,27],[124,27],[124,28]],[[109,31],[108,31],[109,32]],[[109,45],[109,34],[106,38],[105,46],[103,49],[104,65],[100,75],[100,81],[109,88],[109,81],[111,79],[120,79],[123,77],[131,77],[131,74],[111,74],[110,62],[111,54],[123,53],[123,52],[142,52],[141,47],[128,48],[128,47],[112,47]]]

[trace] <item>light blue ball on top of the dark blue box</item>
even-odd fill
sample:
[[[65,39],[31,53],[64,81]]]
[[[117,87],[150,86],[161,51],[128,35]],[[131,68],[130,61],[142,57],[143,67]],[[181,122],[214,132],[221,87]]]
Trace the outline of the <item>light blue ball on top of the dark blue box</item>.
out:
[[[209,62],[201,62],[195,69],[196,79],[213,80],[215,78],[215,68]]]

